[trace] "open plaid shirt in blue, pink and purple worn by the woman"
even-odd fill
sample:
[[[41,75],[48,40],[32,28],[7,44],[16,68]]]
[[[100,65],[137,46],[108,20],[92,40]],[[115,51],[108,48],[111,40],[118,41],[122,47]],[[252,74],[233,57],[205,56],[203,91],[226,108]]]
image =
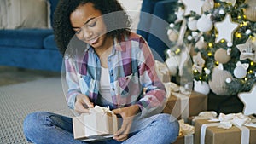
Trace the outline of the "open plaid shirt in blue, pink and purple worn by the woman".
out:
[[[74,108],[79,93],[89,96],[97,105],[101,79],[101,62],[93,48],[83,56],[65,58],[68,85],[67,103]],[[137,104],[143,114],[160,112],[166,101],[166,90],[157,77],[154,58],[142,37],[131,33],[125,41],[113,39],[113,49],[108,56],[110,92],[113,108]],[[147,89],[143,91],[143,89]],[[152,113],[151,113],[152,114]]]

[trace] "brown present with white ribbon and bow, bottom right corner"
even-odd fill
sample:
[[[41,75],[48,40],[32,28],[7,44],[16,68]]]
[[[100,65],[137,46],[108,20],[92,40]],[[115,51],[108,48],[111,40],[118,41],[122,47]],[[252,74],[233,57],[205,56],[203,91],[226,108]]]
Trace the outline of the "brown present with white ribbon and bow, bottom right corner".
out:
[[[195,120],[195,143],[256,143],[256,124],[241,113],[219,114],[218,119]]]

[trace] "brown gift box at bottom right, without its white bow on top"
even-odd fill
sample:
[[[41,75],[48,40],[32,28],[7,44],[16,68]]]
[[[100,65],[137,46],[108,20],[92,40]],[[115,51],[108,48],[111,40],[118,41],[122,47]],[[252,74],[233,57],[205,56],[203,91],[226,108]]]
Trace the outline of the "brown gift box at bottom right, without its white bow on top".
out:
[[[256,128],[231,126],[230,129],[218,127],[219,122],[208,119],[195,120],[195,143],[197,144],[255,144]]]

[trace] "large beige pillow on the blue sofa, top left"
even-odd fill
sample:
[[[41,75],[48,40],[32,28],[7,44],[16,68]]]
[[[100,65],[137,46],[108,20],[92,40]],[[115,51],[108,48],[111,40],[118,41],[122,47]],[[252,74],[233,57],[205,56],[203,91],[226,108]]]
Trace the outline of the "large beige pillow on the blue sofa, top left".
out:
[[[49,28],[47,0],[5,0],[7,4],[6,29]]]

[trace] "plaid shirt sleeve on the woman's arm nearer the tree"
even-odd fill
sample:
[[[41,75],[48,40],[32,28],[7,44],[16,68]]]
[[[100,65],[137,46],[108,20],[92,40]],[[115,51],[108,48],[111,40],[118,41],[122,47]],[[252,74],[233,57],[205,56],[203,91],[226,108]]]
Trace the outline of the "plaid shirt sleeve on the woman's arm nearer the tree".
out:
[[[142,117],[148,117],[162,112],[166,103],[166,89],[158,78],[154,66],[154,57],[143,38],[140,40],[141,52],[137,54],[140,82],[147,89],[137,102],[142,111]]]

